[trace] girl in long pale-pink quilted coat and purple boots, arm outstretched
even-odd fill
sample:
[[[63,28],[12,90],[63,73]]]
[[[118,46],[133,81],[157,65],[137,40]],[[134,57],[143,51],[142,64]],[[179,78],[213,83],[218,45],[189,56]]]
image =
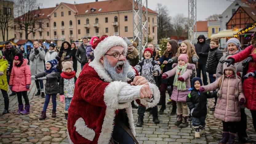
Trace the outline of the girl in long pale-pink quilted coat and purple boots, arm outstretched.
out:
[[[233,144],[236,137],[236,125],[241,119],[240,106],[245,103],[241,78],[236,74],[236,66],[224,63],[223,75],[215,82],[201,86],[200,91],[212,91],[219,89],[218,100],[215,106],[214,117],[222,120],[223,132],[220,144],[226,142]]]

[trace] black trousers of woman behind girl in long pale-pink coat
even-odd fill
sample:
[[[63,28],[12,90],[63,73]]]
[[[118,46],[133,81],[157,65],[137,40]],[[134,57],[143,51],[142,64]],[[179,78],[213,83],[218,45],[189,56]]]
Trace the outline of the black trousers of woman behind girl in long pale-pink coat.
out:
[[[237,122],[237,134],[239,138],[248,137],[246,133],[247,129],[247,116],[245,114],[245,109],[241,109],[241,120]]]

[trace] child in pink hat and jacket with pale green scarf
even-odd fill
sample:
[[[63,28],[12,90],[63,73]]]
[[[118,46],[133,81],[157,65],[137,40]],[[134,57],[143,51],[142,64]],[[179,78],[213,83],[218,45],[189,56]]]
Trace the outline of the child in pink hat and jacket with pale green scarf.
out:
[[[175,67],[174,67],[175,66]],[[189,109],[186,103],[187,95],[190,93],[190,77],[195,68],[194,64],[188,63],[188,55],[181,54],[178,57],[178,64],[173,64],[173,69],[162,74],[162,79],[174,76],[173,91],[171,100],[177,102],[177,122],[175,126],[187,127]]]

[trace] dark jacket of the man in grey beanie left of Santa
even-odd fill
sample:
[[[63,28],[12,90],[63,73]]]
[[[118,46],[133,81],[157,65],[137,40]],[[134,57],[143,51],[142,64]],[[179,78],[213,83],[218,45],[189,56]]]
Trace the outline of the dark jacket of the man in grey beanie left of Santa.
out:
[[[83,46],[83,44],[81,44],[76,51],[76,59],[82,65],[85,65],[88,62],[88,59],[86,57],[86,47],[87,46],[91,46],[91,45],[89,43],[86,43],[86,46]],[[80,58],[79,58],[79,56],[80,56]]]

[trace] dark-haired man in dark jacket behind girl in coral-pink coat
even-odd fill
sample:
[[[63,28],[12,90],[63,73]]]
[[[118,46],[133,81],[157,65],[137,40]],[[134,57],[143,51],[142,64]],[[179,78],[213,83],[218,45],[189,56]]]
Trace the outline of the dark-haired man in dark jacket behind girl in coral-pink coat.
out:
[[[3,53],[3,56],[8,61],[8,67],[6,69],[6,75],[7,75],[7,82],[9,83],[10,80],[10,73],[12,71],[12,65],[14,56],[19,53],[19,50],[16,49],[14,46],[11,45],[10,41],[5,42],[5,51]],[[14,96],[16,93],[13,91],[10,96]]]

